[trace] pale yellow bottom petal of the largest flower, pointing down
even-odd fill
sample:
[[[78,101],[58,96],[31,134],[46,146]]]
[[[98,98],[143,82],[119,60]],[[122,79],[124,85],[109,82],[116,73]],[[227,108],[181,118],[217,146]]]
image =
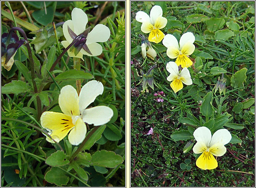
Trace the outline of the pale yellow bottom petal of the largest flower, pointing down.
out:
[[[86,132],[87,129],[85,123],[81,118],[78,118],[75,127],[70,131],[68,136],[70,144],[74,146],[81,144],[85,138]]]

